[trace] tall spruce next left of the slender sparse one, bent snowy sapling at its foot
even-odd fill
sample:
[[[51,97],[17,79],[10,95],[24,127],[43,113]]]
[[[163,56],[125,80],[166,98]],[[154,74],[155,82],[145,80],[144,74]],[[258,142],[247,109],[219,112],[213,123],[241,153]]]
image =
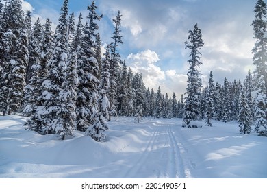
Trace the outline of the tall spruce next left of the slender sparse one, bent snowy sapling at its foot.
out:
[[[102,15],[97,14],[97,6],[94,5],[94,1],[88,7],[89,16],[88,16],[88,25],[85,27],[85,40],[87,42],[86,49],[84,49],[84,55],[89,58],[86,59],[86,62],[90,65],[88,70],[87,77],[90,93],[90,123],[92,124],[86,130],[86,135],[89,135],[95,141],[103,142],[105,141],[105,130],[108,129],[107,123],[105,122],[105,117],[103,116],[103,111],[106,111],[110,107],[110,102],[105,95],[105,91],[99,91],[99,79],[100,70],[99,63],[97,62],[96,54],[92,49],[97,49],[100,46],[100,43],[97,44],[97,29],[99,28],[96,21],[99,21],[102,18]],[[89,49],[90,47],[90,49]]]

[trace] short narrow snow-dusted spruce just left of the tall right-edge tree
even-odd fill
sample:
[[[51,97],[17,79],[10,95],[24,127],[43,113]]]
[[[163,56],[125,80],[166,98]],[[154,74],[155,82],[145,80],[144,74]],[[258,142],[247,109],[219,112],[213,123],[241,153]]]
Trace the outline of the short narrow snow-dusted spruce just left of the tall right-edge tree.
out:
[[[240,134],[250,134],[251,133],[251,108],[249,106],[249,97],[244,84],[242,91],[239,96],[239,132]]]

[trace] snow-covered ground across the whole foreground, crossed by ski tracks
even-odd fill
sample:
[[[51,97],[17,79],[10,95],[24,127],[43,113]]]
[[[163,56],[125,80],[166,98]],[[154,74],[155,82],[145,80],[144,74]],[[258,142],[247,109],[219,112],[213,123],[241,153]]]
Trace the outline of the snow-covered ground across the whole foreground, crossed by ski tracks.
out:
[[[267,138],[238,123],[181,128],[181,119],[116,117],[107,141],[75,132],[60,141],[0,117],[0,178],[267,178]]]

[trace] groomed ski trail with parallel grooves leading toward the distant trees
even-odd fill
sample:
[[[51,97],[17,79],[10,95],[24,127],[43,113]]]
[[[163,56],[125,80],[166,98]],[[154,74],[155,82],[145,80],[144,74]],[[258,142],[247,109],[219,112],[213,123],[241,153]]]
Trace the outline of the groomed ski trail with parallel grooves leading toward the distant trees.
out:
[[[155,149],[159,149],[160,146],[164,146],[164,149],[157,154],[157,158],[166,159],[166,166],[162,170],[153,167],[153,177],[190,178],[190,170],[185,167],[182,155],[186,152],[186,149],[184,149],[181,142],[177,141],[177,137],[173,132],[175,123],[147,122],[147,124],[150,123],[155,127],[155,131],[153,132],[147,147],[140,153],[140,158],[138,158],[136,163],[126,171],[124,178],[135,178],[138,176],[138,172],[145,170],[147,165],[149,165],[150,160],[155,160],[155,154],[152,153]],[[160,140],[162,134],[164,134],[164,139]]]

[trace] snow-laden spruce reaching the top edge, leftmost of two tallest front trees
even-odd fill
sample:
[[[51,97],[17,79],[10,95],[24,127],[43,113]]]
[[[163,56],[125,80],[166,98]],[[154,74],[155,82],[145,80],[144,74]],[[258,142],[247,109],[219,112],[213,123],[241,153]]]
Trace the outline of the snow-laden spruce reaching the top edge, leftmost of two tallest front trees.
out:
[[[68,0],[64,0],[60,12],[59,23],[55,30],[55,47],[47,67],[49,68],[47,80],[42,83],[44,99],[42,117],[47,123],[42,126],[42,134],[60,134],[62,139],[65,133],[71,134],[69,127],[62,126],[64,115],[62,105],[64,102],[60,98],[63,83],[66,81],[66,68],[68,67]]]

